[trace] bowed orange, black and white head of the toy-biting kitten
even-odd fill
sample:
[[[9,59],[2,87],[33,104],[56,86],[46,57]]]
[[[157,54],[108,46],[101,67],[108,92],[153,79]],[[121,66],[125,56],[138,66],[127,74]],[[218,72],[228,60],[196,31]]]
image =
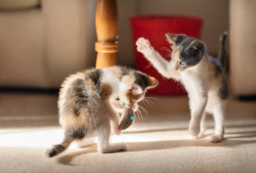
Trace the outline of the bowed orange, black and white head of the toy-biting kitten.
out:
[[[157,85],[154,77],[147,76],[139,71],[132,71],[121,79],[119,101],[125,107],[137,109],[137,102],[144,98],[147,89]]]

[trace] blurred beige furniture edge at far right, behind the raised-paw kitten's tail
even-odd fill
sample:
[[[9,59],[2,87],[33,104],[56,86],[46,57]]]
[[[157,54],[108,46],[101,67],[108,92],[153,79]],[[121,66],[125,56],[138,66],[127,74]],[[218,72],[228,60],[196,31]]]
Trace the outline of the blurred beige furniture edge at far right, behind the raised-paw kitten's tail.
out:
[[[236,96],[256,94],[255,10],[255,0],[230,0],[230,86]]]

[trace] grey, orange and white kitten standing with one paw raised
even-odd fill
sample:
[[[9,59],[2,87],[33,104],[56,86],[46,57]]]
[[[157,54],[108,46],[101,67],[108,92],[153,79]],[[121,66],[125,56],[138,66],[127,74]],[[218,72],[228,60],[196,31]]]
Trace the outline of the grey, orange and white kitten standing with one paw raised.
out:
[[[209,137],[210,142],[223,139],[223,111],[228,97],[225,66],[225,40],[227,33],[220,37],[218,60],[207,55],[202,41],[187,37],[184,34],[166,34],[172,45],[172,60],[166,61],[154,50],[149,41],[139,38],[137,50],[153,64],[166,78],[181,81],[189,96],[191,120],[189,134],[192,138],[201,138],[205,132],[205,117],[211,113],[215,119],[215,134]]]

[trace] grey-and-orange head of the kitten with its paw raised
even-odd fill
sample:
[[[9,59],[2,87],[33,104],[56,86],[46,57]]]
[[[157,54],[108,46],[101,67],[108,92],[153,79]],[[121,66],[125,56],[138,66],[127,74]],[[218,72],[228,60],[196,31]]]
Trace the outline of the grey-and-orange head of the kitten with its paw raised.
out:
[[[172,44],[172,61],[174,70],[183,71],[197,65],[205,55],[206,47],[202,41],[187,37],[184,34],[166,34]]]

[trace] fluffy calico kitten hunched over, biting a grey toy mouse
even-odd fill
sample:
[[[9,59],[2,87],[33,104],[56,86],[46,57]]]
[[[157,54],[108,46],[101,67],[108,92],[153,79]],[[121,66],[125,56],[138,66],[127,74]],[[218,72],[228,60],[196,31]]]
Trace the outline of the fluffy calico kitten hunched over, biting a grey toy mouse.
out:
[[[109,144],[110,122],[113,132],[121,133],[115,110],[121,111],[124,105],[136,110],[137,102],[143,99],[146,90],[156,85],[153,77],[119,66],[70,75],[61,85],[58,100],[64,139],[47,150],[47,155],[53,157],[63,152],[74,140],[78,141],[79,147],[84,147],[94,142],[87,138],[96,136],[100,153],[126,150],[124,143]]]

